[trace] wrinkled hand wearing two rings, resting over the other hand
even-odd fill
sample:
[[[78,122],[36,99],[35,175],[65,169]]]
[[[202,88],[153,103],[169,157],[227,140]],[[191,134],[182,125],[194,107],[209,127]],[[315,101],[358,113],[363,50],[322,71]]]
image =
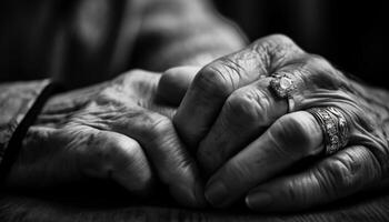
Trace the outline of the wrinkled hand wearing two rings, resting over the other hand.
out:
[[[174,78],[166,77],[172,85]],[[246,198],[258,211],[305,209],[388,176],[388,101],[366,90],[289,38],[270,36],[201,69],[173,122],[211,175],[213,206]],[[308,157],[320,160],[289,171]]]

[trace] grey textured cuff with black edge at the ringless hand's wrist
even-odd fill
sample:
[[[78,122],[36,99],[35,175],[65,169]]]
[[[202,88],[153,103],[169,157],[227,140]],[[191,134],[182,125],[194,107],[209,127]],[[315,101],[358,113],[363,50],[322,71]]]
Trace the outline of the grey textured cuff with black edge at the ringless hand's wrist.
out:
[[[4,176],[17,154],[18,143],[52,89],[49,80],[0,83],[0,179]]]

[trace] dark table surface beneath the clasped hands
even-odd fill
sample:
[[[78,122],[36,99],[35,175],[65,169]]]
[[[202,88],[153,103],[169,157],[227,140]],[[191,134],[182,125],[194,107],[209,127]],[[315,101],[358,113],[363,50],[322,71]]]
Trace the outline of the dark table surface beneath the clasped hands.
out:
[[[8,191],[0,196],[0,222],[389,221],[387,190],[360,193],[305,212],[272,214],[250,212],[239,205],[228,210],[184,209],[163,195],[140,202],[118,188],[83,191],[62,188],[44,193]]]

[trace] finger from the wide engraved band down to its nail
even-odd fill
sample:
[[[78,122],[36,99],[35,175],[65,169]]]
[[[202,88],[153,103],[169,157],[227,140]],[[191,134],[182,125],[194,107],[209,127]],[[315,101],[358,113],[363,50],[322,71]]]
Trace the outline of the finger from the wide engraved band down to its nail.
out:
[[[215,206],[227,206],[255,185],[322,149],[320,125],[310,113],[283,115],[212,175],[206,198]]]

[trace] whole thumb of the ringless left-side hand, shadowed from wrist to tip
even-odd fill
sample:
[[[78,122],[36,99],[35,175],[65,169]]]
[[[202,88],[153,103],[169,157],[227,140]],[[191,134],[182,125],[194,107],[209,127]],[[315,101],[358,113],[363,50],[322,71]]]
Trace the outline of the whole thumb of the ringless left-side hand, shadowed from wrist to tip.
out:
[[[137,195],[148,193],[153,182],[136,141],[89,127],[31,127],[9,175],[6,184],[21,188],[58,185],[86,176],[112,179]]]

